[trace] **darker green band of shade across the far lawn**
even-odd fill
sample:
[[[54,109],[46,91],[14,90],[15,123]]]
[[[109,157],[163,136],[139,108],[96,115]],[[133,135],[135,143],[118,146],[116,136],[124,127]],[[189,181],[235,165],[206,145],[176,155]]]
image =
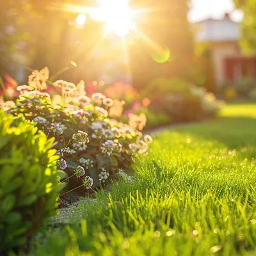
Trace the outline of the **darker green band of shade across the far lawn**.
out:
[[[206,140],[217,140],[230,149],[246,148],[246,157],[256,157],[256,118],[248,116],[228,116],[206,122],[189,125],[175,131],[191,134]]]

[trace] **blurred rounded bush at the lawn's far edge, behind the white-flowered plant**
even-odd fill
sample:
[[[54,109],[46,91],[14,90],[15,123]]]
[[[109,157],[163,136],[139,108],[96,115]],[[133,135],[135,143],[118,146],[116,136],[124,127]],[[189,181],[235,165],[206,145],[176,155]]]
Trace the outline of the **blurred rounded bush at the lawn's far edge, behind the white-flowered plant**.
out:
[[[214,116],[221,108],[221,102],[216,100],[214,94],[178,77],[156,79],[142,93],[152,101],[149,109],[162,111],[174,121]]]

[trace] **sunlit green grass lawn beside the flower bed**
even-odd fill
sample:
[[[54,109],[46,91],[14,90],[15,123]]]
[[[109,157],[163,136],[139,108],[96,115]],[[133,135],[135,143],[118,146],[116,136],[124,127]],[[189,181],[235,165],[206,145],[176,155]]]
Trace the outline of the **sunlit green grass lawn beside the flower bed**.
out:
[[[81,205],[77,225],[48,230],[31,255],[256,255],[255,157],[256,104],[165,131],[134,180]]]

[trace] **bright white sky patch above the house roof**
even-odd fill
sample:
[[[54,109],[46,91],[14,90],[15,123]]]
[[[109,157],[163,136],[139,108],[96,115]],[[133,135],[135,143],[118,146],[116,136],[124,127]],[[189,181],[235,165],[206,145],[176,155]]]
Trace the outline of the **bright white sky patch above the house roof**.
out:
[[[241,20],[243,15],[235,10],[232,0],[191,0],[189,20],[198,21],[207,18],[221,19],[225,12],[231,13],[234,20]]]

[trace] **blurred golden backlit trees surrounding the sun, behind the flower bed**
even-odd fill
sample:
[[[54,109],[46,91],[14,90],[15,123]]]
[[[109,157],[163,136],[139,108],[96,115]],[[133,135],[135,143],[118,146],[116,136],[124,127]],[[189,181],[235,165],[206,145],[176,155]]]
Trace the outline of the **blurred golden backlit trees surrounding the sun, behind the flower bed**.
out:
[[[122,57],[124,50],[118,47],[120,38],[100,40],[104,25],[90,17],[85,26],[77,28],[74,20],[79,13],[67,9],[68,4],[93,7],[95,2],[1,1],[0,76],[10,74],[24,83],[30,72],[24,67],[47,66],[53,74],[63,68],[62,77],[69,81],[108,80],[107,73],[114,80],[132,79],[138,89],[156,77],[179,76],[193,83],[205,82],[204,65],[195,54],[193,31],[187,20],[189,1],[129,2],[132,8],[144,10],[150,6],[154,10],[140,16],[137,26],[141,35],[127,40],[129,68]]]

